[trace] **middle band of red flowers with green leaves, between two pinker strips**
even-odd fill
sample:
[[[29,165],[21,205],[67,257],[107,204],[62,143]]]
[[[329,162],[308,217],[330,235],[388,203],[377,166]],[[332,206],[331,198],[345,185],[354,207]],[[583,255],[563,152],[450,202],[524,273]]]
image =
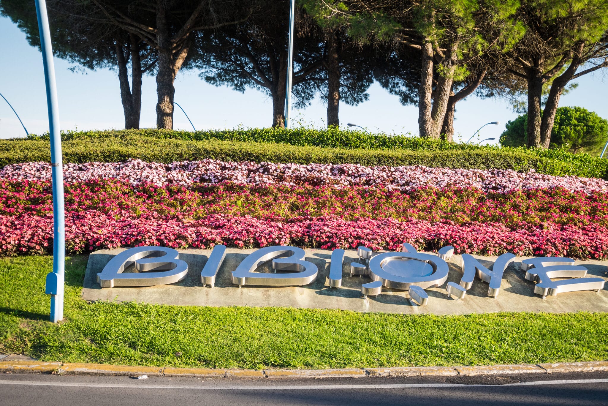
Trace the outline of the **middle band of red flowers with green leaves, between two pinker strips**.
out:
[[[509,229],[544,223],[608,226],[608,194],[564,189],[484,193],[472,187],[423,187],[410,192],[348,186],[154,186],[117,180],[66,184],[67,212],[145,213],[198,220],[210,214],[260,219],[294,217],[450,220],[500,223]],[[49,181],[0,181],[0,214],[52,212]]]

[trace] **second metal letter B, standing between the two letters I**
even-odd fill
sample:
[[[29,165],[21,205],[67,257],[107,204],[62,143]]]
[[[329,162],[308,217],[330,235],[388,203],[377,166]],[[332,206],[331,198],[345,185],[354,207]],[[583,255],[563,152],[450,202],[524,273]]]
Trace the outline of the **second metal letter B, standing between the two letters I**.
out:
[[[262,286],[302,286],[308,285],[317,278],[317,265],[304,261],[305,252],[302,248],[283,247],[275,245],[264,247],[249,254],[237,269],[232,272],[232,283],[242,285]],[[275,273],[254,272],[266,261],[272,259]],[[294,271],[292,273],[276,273],[277,270]]]

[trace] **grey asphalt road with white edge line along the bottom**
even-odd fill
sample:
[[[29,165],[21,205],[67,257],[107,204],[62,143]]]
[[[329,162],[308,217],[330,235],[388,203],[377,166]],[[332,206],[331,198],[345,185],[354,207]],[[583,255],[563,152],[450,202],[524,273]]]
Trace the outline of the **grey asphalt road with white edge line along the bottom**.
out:
[[[607,405],[608,373],[197,379],[2,374],[0,405]]]

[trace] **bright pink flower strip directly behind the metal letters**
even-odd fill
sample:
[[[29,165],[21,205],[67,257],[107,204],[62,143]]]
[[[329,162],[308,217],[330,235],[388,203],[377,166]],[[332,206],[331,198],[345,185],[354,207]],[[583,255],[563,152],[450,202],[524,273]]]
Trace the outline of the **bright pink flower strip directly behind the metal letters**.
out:
[[[52,215],[0,215],[0,253],[47,253],[52,250]],[[69,252],[133,245],[206,248],[217,243],[237,247],[297,245],[315,248],[395,250],[410,242],[421,250],[452,245],[457,253],[603,258],[608,254],[608,228],[598,225],[525,226],[510,230],[499,223],[430,223],[424,220],[297,217],[258,219],[249,215],[208,215],[200,220],[154,214],[131,216],[98,211],[66,215]]]

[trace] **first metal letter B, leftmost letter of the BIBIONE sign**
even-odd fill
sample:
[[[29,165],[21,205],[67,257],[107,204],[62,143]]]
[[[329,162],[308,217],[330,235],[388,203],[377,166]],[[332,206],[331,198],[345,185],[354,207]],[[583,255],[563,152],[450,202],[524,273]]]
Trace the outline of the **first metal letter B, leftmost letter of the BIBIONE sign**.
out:
[[[102,287],[154,286],[179,282],[188,273],[188,264],[178,259],[179,253],[167,247],[135,247],[114,256],[97,274]],[[135,264],[139,273],[123,273]],[[161,271],[161,272],[149,272]]]

